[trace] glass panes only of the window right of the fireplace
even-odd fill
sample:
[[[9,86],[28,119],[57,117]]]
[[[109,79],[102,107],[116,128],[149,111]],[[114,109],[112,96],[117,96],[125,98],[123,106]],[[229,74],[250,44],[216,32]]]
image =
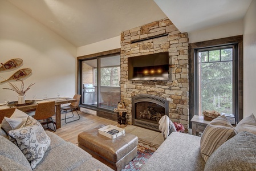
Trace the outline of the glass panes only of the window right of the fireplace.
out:
[[[204,110],[234,114],[235,46],[196,51],[197,113]]]

